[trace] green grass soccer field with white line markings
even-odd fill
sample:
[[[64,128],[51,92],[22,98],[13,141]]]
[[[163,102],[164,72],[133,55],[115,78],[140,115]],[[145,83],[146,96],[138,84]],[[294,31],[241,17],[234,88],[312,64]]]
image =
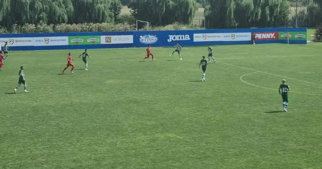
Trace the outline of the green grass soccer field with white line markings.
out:
[[[322,169],[321,45],[213,49],[206,82],[207,47],[89,50],[87,71],[83,50],[10,52],[0,169]]]

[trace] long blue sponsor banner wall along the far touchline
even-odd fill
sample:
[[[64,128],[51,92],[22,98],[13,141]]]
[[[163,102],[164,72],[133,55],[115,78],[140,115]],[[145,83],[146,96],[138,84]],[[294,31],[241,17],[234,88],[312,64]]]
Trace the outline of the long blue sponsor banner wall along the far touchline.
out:
[[[172,47],[175,42],[181,46],[239,45],[285,43],[285,40],[271,36],[274,32],[301,32],[306,28],[260,28],[260,29],[208,29],[175,31],[129,31],[129,32],[73,32],[73,33],[30,33],[0,34],[0,46],[8,42],[12,51],[73,50],[105,48],[140,48],[150,44],[153,47]],[[303,34],[305,33],[305,35]],[[101,39],[100,39],[101,37]],[[95,39],[95,42],[93,41]],[[77,41],[71,43],[70,41]],[[289,40],[290,44],[306,44],[305,37]],[[77,45],[74,45],[77,44]]]

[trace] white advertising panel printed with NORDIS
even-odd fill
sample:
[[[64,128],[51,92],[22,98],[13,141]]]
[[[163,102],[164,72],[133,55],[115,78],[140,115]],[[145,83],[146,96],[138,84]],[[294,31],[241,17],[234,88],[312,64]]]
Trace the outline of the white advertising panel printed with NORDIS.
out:
[[[133,44],[133,35],[101,36],[102,44]]]

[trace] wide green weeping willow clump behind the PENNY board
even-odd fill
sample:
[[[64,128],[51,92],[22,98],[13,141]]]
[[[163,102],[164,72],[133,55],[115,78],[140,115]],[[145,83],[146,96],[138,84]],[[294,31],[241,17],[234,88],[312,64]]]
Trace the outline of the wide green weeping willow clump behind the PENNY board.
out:
[[[206,20],[212,28],[286,26],[290,14],[286,0],[208,0]]]

